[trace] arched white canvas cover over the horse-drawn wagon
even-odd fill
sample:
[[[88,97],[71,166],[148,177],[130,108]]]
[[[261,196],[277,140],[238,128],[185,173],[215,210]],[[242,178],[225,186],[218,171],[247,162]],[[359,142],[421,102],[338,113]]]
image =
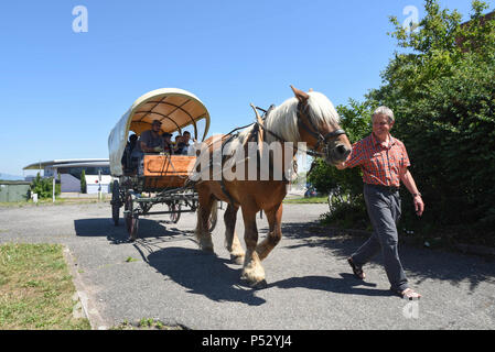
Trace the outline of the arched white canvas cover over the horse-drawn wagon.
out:
[[[205,119],[203,135],[198,135],[196,122]],[[204,103],[192,92],[179,88],[157,89],[138,98],[120,118],[108,136],[110,173],[122,175],[120,163],[129,131],[140,135],[151,129],[153,120],[162,122],[161,133],[181,131],[194,127],[194,138],[203,141],[209,129],[209,113]]]

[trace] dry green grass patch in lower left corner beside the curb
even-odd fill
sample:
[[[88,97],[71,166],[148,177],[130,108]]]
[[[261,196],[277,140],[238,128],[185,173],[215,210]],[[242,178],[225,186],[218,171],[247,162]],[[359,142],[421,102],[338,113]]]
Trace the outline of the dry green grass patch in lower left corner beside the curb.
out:
[[[0,330],[90,330],[58,244],[0,245]]]

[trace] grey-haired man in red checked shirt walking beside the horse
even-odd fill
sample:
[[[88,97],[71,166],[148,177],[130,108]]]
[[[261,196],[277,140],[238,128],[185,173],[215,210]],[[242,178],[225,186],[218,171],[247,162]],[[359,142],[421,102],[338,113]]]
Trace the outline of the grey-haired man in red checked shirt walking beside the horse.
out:
[[[354,275],[364,279],[363,265],[381,251],[390,289],[403,298],[419,299],[421,295],[408,285],[398,253],[400,182],[411,193],[419,217],[424,210],[424,204],[408,169],[410,162],[406,146],[390,135],[394,123],[394,112],[389,108],[376,109],[373,114],[373,133],[355,143],[347,161],[336,165],[338,169],[356,166],[362,168],[364,197],[374,229],[369,240],[352,254],[347,262]]]

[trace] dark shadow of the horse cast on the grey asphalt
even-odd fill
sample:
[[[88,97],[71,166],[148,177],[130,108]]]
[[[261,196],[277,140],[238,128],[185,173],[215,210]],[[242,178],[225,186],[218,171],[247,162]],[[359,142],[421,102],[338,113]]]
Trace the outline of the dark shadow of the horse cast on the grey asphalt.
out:
[[[215,301],[236,301],[260,306],[265,299],[240,283],[239,268],[230,268],[226,260],[198,250],[166,248],[148,255],[147,262],[165,277]]]

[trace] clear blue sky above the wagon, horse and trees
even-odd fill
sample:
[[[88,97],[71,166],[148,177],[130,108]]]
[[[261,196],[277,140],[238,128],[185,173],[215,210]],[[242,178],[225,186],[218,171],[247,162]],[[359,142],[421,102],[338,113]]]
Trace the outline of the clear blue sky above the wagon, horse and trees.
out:
[[[334,105],[380,85],[395,47],[389,15],[418,0],[3,1],[0,173],[37,161],[108,157],[118,119],[147,91],[177,87],[207,107],[211,133],[279,105],[289,85]],[[467,0],[442,0],[464,19]],[[73,31],[85,6],[88,32]],[[493,6],[491,4],[491,9]],[[28,175],[28,173],[25,173]]]

